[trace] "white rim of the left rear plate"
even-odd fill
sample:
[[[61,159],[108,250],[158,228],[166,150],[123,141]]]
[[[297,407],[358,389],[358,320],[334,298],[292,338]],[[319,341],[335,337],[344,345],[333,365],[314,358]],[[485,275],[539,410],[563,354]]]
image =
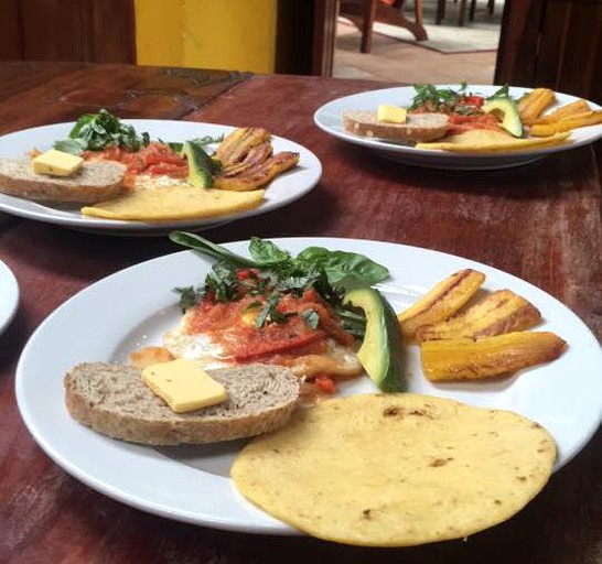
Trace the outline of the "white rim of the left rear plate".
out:
[[[191,121],[191,120],[175,120],[175,119],[153,119],[153,118],[123,118],[120,119],[122,123],[126,124],[132,124],[138,128],[143,128],[143,123],[148,123],[147,127],[181,127],[184,124],[185,127],[192,126],[192,127],[209,127],[209,128],[218,128],[223,129],[224,132],[229,132],[235,129],[237,129],[237,126],[228,126],[225,123],[213,123],[208,121]],[[61,121],[55,123],[47,123],[44,126],[35,126],[32,128],[25,128],[20,129],[15,131],[9,131],[2,135],[0,135],[0,142],[2,140],[7,140],[9,138],[9,141],[11,141],[12,137],[19,137],[23,133],[35,133],[35,131],[44,131],[44,130],[52,130],[56,128],[65,128],[71,129],[75,124],[75,121]],[[82,214],[77,214],[76,210],[68,212],[69,214],[74,214],[73,216],[63,216],[63,215],[52,215],[51,213],[44,212],[44,207],[49,207],[52,209],[52,203],[50,205],[46,205],[43,202],[33,202],[28,200],[25,198],[20,198],[18,196],[11,196],[9,194],[0,193],[0,212],[3,212],[6,214],[10,214],[18,217],[24,217],[26,219],[32,219],[34,221],[41,221],[51,225],[57,225],[61,227],[77,229],[77,230],[86,230],[89,232],[96,232],[96,234],[112,234],[112,235],[136,235],[136,234],[147,234],[147,235],[163,235],[165,232],[169,232],[172,229],[189,229],[189,230],[205,230],[205,229],[212,229],[214,227],[229,224],[233,221],[237,221],[240,219],[246,219],[248,217],[254,217],[257,215],[261,215],[265,213],[273,212],[275,209],[279,209],[281,207],[288,206],[289,204],[294,203],[295,200],[300,199],[301,197],[305,196],[308,193],[310,193],[318,184],[320,183],[320,180],[323,175],[323,166],[322,162],[318,158],[318,155],[308,149],[307,147],[302,145],[301,143],[298,143],[297,141],[293,141],[289,138],[283,138],[280,135],[271,134],[272,140],[277,141],[278,143],[284,143],[290,144],[291,150],[298,151],[300,153],[300,161],[307,160],[307,170],[310,173],[310,177],[308,178],[308,182],[305,185],[303,185],[301,188],[299,188],[299,193],[294,194],[293,196],[287,197],[283,202],[265,202],[260,206],[237,212],[234,214],[225,215],[225,216],[216,216],[212,218],[200,218],[200,219],[182,219],[182,220],[170,220],[170,221],[133,221],[133,220],[114,220],[114,219],[103,219],[103,218],[95,218],[95,217],[86,217]],[[294,174],[294,170],[287,171],[286,174]],[[300,172],[300,171],[297,171]],[[284,176],[281,176],[283,178]],[[276,181],[277,178],[275,178]],[[269,186],[268,188],[269,189]],[[26,205],[28,203],[31,205],[39,205],[41,209],[22,209],[20,208],[20,203],[24,202]],[[57,209],[57,212],[61,212],[61,209]]]

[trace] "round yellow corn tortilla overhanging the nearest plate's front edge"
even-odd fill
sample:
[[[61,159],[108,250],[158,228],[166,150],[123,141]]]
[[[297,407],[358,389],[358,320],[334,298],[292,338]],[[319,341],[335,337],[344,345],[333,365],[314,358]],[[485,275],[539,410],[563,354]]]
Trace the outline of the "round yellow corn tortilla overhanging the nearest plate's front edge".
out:
[[[235,459],[238,490],[320,539],[409,546],[510,518],[547,482],[556,446],[508,411],[418,394],[326,400]]]

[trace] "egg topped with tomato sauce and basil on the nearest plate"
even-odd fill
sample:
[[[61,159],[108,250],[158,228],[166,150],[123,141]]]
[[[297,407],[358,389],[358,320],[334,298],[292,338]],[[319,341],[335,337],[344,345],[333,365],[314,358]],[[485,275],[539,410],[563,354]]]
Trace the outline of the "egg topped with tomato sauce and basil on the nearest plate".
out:
[[[170,238],[217,260],[204,283],[175,289],[185,315],[180,328],[168,335],[165,346],[176,356],[190,354],[193,358],[201,347],[206,358],[207,347],[213,350],[217,344],[222,360],[289,366],[326,389],[331,386],[325,378],[346,378],[362,371],[355,355],[356,338],[366,344],[379,339],[378,347],[370,349],[373,357],[383,356],[384,373],[377,383],[386,390],[404,388],[401,362],[391,364],[387,371],[388,358],[397,358],[401,339],[383,339],[377,333],[376,318],[383,318],[385,306],[377,308],[378,304],[370,303],[364,311],[344,300],[350,291],[375,292],[367,289],[388,278],[385,267],[358,253],[321,247],[309,247],[293,257],[257,237],[249,243],[250,258],[194,234],[174,231]],[[396,321],[393,311],[388,313]],[[389,333],[394,335],[396,329],[398,337],[399,329],[393,325],[396,323]],[[201,341],[194,340],[196,335]],[[182,339],[187,339],[185,344],[192,339],[191,348],[185,348]]]

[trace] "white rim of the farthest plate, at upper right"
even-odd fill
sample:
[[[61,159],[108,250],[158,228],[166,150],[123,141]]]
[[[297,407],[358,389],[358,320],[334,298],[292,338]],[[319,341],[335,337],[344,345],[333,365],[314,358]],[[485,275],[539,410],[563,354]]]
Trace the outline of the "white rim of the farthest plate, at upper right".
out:
[[[459,84],[436,84],[434,85],[438,88],[458,88]],[[402,145],[398,143],[391,143],[384,140],[377,140],[377,139],[368,139],[368,138],[362,138],[358,135],[353,135],[351,133],[347,133],[344,131],[344,129],[341,126],[341,130],[335,129],[327,123],[323,122],[324,115],[327,113],[332,108],[350,100],[356,100],[361,97],[368,97],[368,96],[375,96],[375,95],[393,95],[393,94],[399,94],[400,91],[405,91],[408,94],[411,94],[412,86],[394,86],[394,87],[387,87],[387,88],[375,88],[370,90],[363,90],[355,94],[341,96],[338,98],[334,98],[332,100],[329,100],[327,102],[320,106],[313,113],[313,122],[318,128],[320,128],[325,133],[336,138],[341,139],[343,141],[347,141],[353,144],[357,144],[361,147],[365,147],[368,149],[372,149],[376,152],[388,152],[391,153],[391,159],[399,160],[399,162],[408,162],[412,163],[412,161],[422,161],[423,165],[426,165],[429,162],[437,162],[438,160],[441,160],[441,158],[449,160],[451,163],[449,166],[440,165],[438,167],[447,169],[452,166],[458,166],[458,164],[464,162],[466,163],[466,167],[472,167],[470,164],[474,164],[475,166],[479,166],[479,163],[492,161],[493,163],[503,162],[503,161],[519,161],[516,165],[523,164],[524,162],[533,162],[536,158],[544,158],[549,154],[553,154],[561,151],[568,151],[571,149],[577,149],[579,147],[583,147],[587,144],[591,144],[598,139],[602,138],[602,126],[599,126],[599,133],[595,133],[593,135],[590,135],[588,139],[577,140],[573,141],[570,144],[562,144],[562,145],[555,145],[549,148],[540,148],[540,149],[533,149],[527,151],[508,151],[505,153],[499,154],[492,154],[492,153],[454,153],[452,151],[442,151],[442,150],[433,150],[433,149],[416,149],[415,147],[409,145]],[[476,89],[485,89],[485,90],[496,90],[502,88],[499,85],[482,85],[482,84],[469,84],[469,88],[476,90]],[[533,90],[531,87],[524,87],[524,86],[509,86],[510,93],[518,91],[529,91]],[[578,96],[573,96],[570,94],[565,94],[561,91],[555,90],[555,94],[557,96],[561,96],[562,98],[567,98],[567,101],[573,101],[580,99]],[[583,98],[584,99],[584,98]],[[602,107],[598,104],[585,99],[590,106],[596,110],[601,110]],[[341,121],[342,123],[342,121]],[[592,126],[595,127],[595,126]],[[401,159],[404,161],[401,161]],[[458,164],[453,164],[458,163]],[[413,163],[416,164],[416,163]],[[494,169],[495,166],[492,164],[488,166],[491,169]]]

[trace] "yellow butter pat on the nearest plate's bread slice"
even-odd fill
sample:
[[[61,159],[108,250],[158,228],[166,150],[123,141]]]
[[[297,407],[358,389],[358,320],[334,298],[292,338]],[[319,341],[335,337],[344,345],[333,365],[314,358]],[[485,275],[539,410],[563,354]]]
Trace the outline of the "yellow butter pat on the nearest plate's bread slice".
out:
[[[148,366],[142,381],[175,413],[215,405],[227,399],[226,389],[193,360],[179,358]]]

